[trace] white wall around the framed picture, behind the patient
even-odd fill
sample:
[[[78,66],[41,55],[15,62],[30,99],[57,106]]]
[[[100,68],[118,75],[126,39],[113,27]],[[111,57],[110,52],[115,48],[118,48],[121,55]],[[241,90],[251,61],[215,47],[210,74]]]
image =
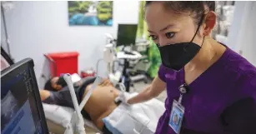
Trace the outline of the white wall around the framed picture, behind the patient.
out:
[[[137,23],[138,7],[138,1],[114,1],[113,27],[69,27],[68,2],[14,2],[14,9],[6,12],[11,54],[15,62],[32,57],[38,79],[48,52],[78,51],[79,70],[95,67],[103,58],[104,34],[116,35],[118,23]],[[106,68],[100,65],[103,75]]]

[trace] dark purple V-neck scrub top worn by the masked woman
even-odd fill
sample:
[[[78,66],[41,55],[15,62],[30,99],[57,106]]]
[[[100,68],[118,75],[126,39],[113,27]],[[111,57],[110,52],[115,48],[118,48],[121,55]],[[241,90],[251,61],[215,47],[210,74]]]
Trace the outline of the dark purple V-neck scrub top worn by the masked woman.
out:
[[[174,134],[168,122],[173,99],[178,101],[178,87],[184,83],[184,70],[174,72],[161,65],[158,77],[167,84],[168,98],[156,134]],[[238,53],[227,47],[188,87],[181,134],[256,134],[256,67]]]

